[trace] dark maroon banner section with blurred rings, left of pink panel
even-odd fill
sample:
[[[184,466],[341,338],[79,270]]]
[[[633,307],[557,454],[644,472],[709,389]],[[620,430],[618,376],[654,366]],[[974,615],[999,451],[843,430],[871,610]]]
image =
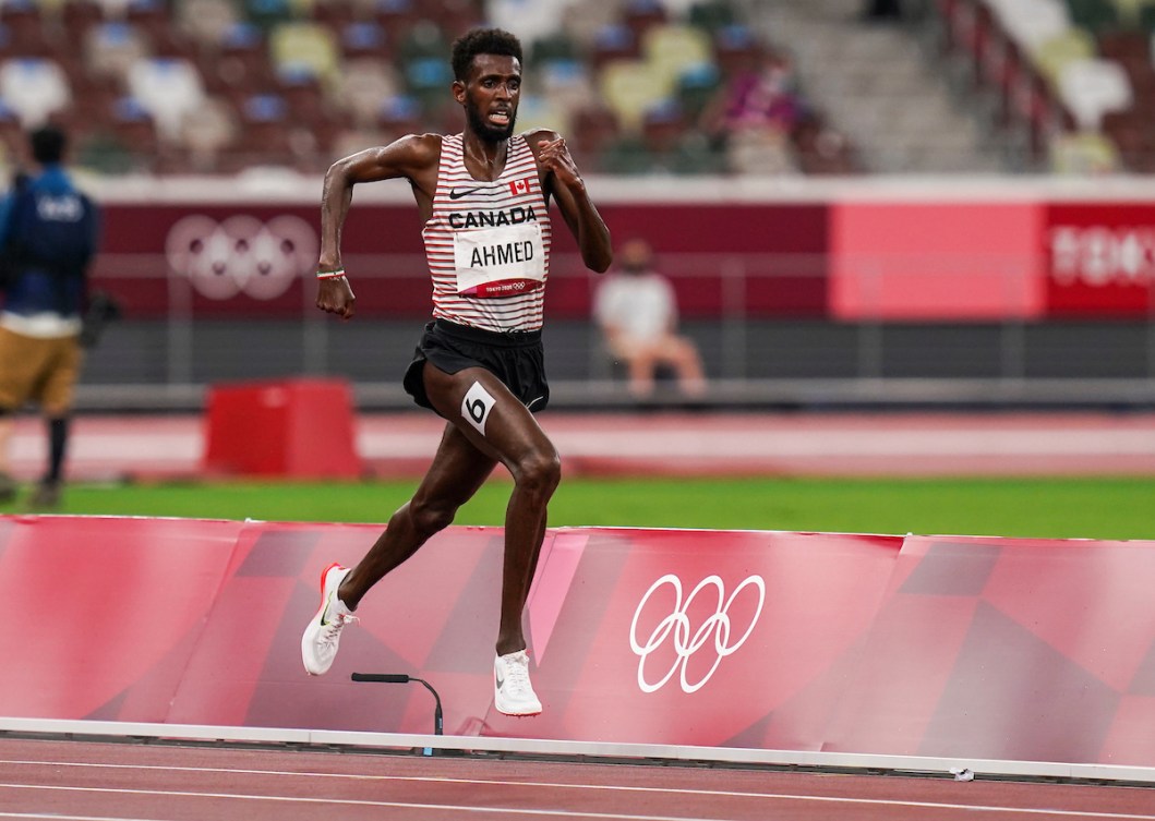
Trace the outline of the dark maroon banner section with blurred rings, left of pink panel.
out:
[[[602,212],[618,242],[644,237],[671,264],[679,255],[706,260],[669,271],[687,318],[718,316],[736,298],[750,316],[826,313],[825,206],[611,204]],[[113,292],[133,320],[312,315],[319,214],[306,204],[110,203],[94,286]],[[561,217],[553,217],[549,315],[589,318],[590,274]],[[430,315],[413,206],[355,206],[343,247],[359,315]],[[780,261],[767,263],[768,253]],[[728,293],[735,264],[745,279],[740,293]]]

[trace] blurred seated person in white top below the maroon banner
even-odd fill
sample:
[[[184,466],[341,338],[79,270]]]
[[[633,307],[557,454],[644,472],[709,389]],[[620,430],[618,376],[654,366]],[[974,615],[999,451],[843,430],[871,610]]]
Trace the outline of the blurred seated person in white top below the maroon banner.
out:
[[[670,282],[654,270],[654,253],[643,239],[631,239],[618,254],[619,267],[606,275],[594,298],[594,319],[614,359],[624,363],[629,391],[654,394],[660,366],[673,370],[686,396],[706,393],[702,363],[694,343],[677,334],[678,305]]]

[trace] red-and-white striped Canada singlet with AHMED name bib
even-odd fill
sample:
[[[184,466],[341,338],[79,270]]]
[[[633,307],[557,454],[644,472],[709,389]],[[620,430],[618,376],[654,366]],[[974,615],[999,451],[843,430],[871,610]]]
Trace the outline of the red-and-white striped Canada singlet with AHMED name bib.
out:
[[[433,316],[485,330],[536,330],[551,239],[537,162],[519,134],[509,139],[501,176],[475,180],[462,139],[441,140],[433,214],[422,230]]]

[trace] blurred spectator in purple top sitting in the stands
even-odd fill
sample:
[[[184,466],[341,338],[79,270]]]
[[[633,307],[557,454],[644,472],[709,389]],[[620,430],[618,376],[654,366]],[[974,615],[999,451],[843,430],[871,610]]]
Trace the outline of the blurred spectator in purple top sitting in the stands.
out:
[[[804,107],[789,57],[766,53],[736,72],[702,114],[708,134],[725,147],[731,171],[796,171],[790,134]]]

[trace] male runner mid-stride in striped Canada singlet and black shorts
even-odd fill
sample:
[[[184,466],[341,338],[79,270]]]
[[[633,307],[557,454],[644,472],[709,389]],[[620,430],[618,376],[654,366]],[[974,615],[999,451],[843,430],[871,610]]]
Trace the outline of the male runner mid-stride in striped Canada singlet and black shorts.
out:
[[[522,612],[560,479],[557,450],[531,411],[549,401],[542,314],[549,273],[549,203],[557,203],[584,263],[610,267],[610,232],[565,141],[545,129],[514,134],[522,50],[499,29],[453,45],[453,96],[465,111],[456,135],[411,134],[336,162],[321,200],[316,305],[343,319],[353,293],[341,264],[341,227],[358,182],[405,178],[417,200],[433,278],[433,316],[404,386],[446,420],[413,498],[360,562],[321,574],[321,607],[305,629],[305,670],[326,672],[362,597],[446,528],[500,462],[514,479],[506,510],[494,701],[507,715],[542,711],[529,680]]]

